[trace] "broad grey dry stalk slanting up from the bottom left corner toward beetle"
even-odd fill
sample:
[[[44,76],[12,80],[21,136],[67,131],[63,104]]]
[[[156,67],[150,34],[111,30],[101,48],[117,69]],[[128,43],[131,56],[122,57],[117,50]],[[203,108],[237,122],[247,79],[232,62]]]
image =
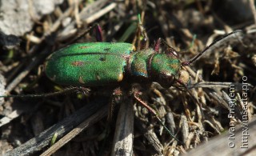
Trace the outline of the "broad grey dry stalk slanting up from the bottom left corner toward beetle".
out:
[[[43,148],[46,148],[46,146],[49,146],[50,140],[55,133],[58,133],[58,137],[62,138],[64,134],[68,133],[70,130],[73,130],[74,126],[77,126],[86,118],[89,118],[99,109],[101,109],[101,112],[102,110],[105,112],[102,114],[106,114],[107,109],[105,107],[103,107],[105,109],[102,108],[102,105],[104,104],[106,104],[106,101],[92,102],[90,105],[78,110],[75,114],[70,115],[69,118],[65,118],[62,122],[59,122],[58,124],[43,131],[37,137],[31,138],[29,141],[22,144],[22,146],[18,146],[14,150],[6,152],[5,155],[30,155],[42,150]],[[88,122],[86,122],[86,124],[88,124]]]

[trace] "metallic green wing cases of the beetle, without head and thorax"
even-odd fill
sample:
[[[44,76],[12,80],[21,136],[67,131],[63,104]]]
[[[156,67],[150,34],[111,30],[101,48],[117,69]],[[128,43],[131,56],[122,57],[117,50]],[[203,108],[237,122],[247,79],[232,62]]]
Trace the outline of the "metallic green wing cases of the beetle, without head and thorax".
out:
[[[104,86],[122,81],[130,43],[76,43],[54,52],[46,62],[46,75],[66,86]]]

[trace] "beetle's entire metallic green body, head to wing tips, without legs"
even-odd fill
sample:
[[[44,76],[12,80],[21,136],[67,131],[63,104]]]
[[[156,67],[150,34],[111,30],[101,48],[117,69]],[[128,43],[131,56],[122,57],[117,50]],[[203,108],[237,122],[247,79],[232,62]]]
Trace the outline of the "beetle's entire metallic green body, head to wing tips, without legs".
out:
[[[76,43],[54,52],[46,61],[46,75],[66,86],[105,86],[121,82],[123,74],[172,82],[181,73],[181,62],[153,49],[135,51],[125,42]]]

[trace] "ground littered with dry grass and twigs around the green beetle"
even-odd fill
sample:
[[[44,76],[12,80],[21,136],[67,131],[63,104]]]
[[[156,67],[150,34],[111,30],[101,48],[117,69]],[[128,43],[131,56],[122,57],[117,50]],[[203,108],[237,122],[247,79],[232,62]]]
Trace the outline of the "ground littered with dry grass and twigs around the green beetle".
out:
[[[253,0],[22,0],[0,8],[0,94],[18,95],[0,99],[0,155],[253,153]],[[99,42],[97,26],[103,42],[159,49],[180,62],[215,44],[190,66],[174,66],[190,74],[186,84],[176,79],[168,86],[152,82],[156,74],[141,79],[130,72],[122,82],[93,87],[47,78],[50,54],[74,42]],[[235,30],[241,31],[216,40]]]

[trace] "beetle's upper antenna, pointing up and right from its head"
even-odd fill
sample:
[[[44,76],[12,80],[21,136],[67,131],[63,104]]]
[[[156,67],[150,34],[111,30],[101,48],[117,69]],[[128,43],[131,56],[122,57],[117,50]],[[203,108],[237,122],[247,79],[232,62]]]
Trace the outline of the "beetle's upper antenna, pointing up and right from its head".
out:
[[[202,50],[194,58],[190,59],[190,61],[182,62],[182,66],[189,66],[195,60],[200,58],[202,56],[202,54],[205,53],[206,51],[214,50],[215,48],[217,48],[219,46],[222,46],[228,42],[234,41],[234,39],[238,39],[238,41],[241,42],[242,37],[243,37],[242,30],[235,30],[235,31],[231,32],[230,34],[226,34],[226,35],[222,36],[221,38],[216,39],[209,46],[206,46],[206,49]]]

